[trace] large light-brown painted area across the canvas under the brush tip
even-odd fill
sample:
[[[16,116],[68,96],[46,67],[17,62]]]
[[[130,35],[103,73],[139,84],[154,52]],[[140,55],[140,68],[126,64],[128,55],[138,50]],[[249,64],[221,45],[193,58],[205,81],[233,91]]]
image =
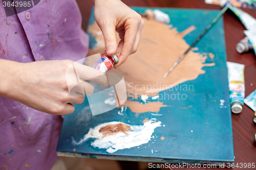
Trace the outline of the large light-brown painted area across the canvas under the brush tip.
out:
[[[134,96],[137,99],[140,94],[156,95],[160,91],[196,79],[200,74],[205,73],[202,67],[215,65],[215,63],[204,63],[208,56],[190,51],[167,78],[163,78],[165,72],[189,47],[183,37],[196,28],[191,26],[179,33],[176,28],[170,29],[172,27],[170,25],[143,19],[145,26],[138,51],[129,56],[118,69],[110,70],[123,75],[128,97]],[[104,38],[96,22],[88,30],[97,41],[96,46],[89,50],[88,56],[101,53],[105,50]],[[116,37],[119,42],[118,34]],[[198,50],[198,48],[193,50]],[[209,57],[213,59],[214,55],[211,54]],[[160,107],[166,107],[162,102],[141,104],[129,100],[124,103],[124,106],[129,107],[135,113],[157,112]]]

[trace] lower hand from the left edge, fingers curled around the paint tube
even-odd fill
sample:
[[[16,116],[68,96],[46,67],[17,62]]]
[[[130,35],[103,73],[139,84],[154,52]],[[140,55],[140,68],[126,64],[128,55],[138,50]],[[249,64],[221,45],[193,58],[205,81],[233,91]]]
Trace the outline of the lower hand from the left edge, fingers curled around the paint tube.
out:
[[[36,61],[31,63],[7,61],[6,65],[8,65],[8,62],[11,62],[9,66],[12,65],[13,67],[12,69],[9,69],[9,67],[9,70],[6,69],[7,72],[5,72],[8,76],[3,81],[4,96],[50,114],[72,113],[75,108],[71,103],[81,104],[84,100],[82,93],[87,95],[93,93],[94,86],[91,83],[82,82],[75,86],[77,85],[76,79],[90,79],[90,81],[98,84],[103,84],[106,81],[104,79],[105,76],[100,71],[86,65],[74,63],[71,60]],[[74,71],[72,64],[75,65],[77,78],[72,72]],[[73,82],[67,80],[67,68],[69,66],[72,68],[70,69],[70,75],[73,74],[73,80],[75,80]],[[72,87],[75,86],[75,92],[80,95],[71,95],[68,84]]]

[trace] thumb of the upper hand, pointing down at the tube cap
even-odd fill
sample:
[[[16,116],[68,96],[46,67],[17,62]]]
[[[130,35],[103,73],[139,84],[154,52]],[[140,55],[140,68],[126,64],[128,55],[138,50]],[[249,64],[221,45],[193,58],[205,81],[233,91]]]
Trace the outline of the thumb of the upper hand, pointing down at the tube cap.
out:
[[[104,41],[105,41],[105,47],[106,47],[106,54],[109,56],[112,56],[116,53],[117,49],[117,42],[116,42],[116,28],[114,25],[107,26],[101,29]]]

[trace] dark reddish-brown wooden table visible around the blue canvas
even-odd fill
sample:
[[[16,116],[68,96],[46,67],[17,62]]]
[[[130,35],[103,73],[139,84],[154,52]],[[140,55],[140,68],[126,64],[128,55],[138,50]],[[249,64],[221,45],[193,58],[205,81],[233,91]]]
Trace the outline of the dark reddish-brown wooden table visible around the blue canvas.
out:
[[[166,7],[166,8],[194,8],[194,9],[219,9],[217,5],[205,4],[204,0],[123,0],[127,6],[141,7]],[[86,30],[91,9],[94,5],[92,0],[77,0],[82,14],[82,28]],[[243,9],[251,16],[256,18],[256,10]],[[224,30],[226,40],[227,60],[245,64],[245,96],[256,89],[256,57],[253,52],[239,54],[236,51],[237,43],[245,37],[244,26],[230,10],[224,14]],[[254,112],[244,106],[240,114],[232,114],[234,156],[237,163],[256,164],[256,125],[253,123]],[[138,162],[121,161],[123,169],[138,169]],[[181,169],[181,168],[172,168]],[[189,168],[182,168],[189,169]],[[197,169],[197,168],[193,168]],[[223,168],[214,168],[223,169]],[[233,168],[242,169],[242,168]],[[247,169],[247,168],[244,168]],[[252,169],[252,168],[250,168]]]

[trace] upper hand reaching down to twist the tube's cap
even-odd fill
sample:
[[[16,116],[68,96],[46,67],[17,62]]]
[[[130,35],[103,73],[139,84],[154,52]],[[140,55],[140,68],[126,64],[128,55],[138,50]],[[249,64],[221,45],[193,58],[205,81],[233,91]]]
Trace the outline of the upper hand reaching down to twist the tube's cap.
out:
[[[120,0],[95,0],[94,16],[105,40],[106,51],[102,55],[116,54],[119,62],[114,67],[117,68],[137,51],[144,21]],[[118,45],[116,31],[121,39]]]

